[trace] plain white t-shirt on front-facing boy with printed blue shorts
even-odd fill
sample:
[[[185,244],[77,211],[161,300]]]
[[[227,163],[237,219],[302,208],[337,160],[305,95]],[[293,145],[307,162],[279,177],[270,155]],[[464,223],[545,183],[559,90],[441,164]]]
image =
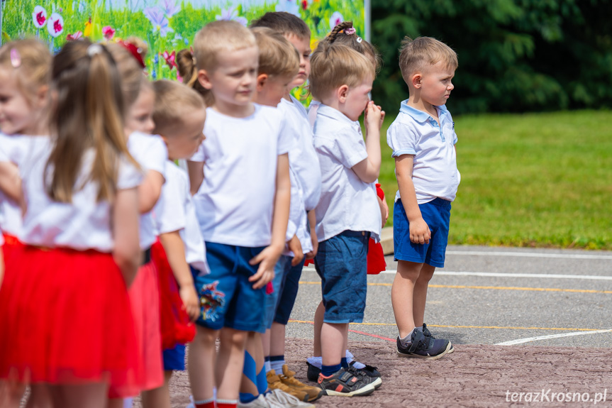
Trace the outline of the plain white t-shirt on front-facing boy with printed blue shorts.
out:
[[[278,156],[293,143],[282,113],[255,104],[246,118],[206,109],[206,140],[191,158],[204,162],[204,181],[194,195],[206,242],[243,247],[268,246]]]

